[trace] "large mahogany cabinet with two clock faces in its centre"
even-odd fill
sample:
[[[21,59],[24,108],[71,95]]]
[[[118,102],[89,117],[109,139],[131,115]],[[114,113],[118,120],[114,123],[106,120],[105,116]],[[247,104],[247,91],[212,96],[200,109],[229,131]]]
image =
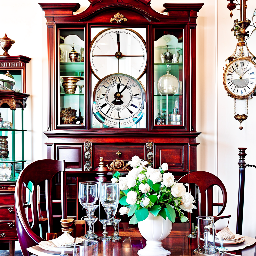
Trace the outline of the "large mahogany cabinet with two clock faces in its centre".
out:
[[[65,160],[66,215],[77,220],[84,216],[80,181],[110,181],[106,165],[121,170],[122,161],[112,161],[134,155],[152,168],[167,162],[178,179],[196,171],[200,134],[196,19],[203,4],[164,4],[164,15],[150,0],[89,1],[77,15],[79,3],[39,3],[48,34],[47,158]],[[60,189],[56,177],[59,219]]]

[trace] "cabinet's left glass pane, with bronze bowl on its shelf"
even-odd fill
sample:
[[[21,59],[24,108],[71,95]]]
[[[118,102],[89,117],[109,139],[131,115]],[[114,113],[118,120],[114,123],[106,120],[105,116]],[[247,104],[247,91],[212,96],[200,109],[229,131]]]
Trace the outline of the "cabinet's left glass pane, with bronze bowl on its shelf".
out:
[[[84,28],[59,29],[59,123],[84,126]]]

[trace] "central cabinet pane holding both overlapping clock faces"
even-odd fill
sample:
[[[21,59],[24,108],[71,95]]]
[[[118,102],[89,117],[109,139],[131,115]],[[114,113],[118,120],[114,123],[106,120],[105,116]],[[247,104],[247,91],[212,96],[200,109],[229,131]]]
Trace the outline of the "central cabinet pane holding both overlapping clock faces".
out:
[[[146,28],[91,28],[92,128],[145,128]]]

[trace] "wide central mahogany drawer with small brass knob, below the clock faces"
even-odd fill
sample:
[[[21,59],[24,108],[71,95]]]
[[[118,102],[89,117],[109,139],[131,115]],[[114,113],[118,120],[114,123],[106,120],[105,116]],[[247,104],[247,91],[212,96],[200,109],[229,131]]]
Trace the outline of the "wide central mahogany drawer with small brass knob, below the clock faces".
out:
[[[116,153],[120,151],[118,156]],[[133,156],[140,159],[146,157],[146,145],[144,144],[97,144],[93,145],[93,169],[99,166],[100,157],[103,157],[104,163],[110,163],[115,159],[131,161]]]

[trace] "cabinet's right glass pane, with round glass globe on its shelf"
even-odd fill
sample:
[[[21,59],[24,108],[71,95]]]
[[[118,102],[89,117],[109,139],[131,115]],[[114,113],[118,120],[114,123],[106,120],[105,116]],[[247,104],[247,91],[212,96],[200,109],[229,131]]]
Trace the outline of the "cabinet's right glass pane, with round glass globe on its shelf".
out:
[[[183,125],[183,29],[154,29],[154,125]]]

